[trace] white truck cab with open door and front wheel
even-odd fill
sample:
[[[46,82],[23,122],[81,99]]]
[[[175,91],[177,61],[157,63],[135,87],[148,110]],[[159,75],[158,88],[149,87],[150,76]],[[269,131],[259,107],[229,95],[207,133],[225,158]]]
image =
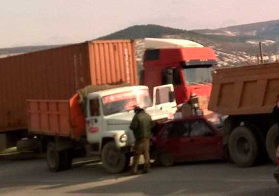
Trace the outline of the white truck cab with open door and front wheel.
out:
[[[87,96],[86,135],[89,144],[95,146],[95,152],[108,172],[118,173],[127,167],[129,152],[135,139],[129,125],[134,117],[134,107],[140,106],[151,116],[153,121],[166,120],[173,113],[166,108],[175,108],[175,100],[170,92],[173,87],[156,94],[152,104],[147,86],[127,86],[97,91]],[[159,87],[155,87],[159,89]],[[165,96],[167,95],[167,98]],[[156,98],[161,96],[161,98]],[[166,100],[170,100],[167,102]],[[156,101],[156,100],[163,100]],[[156,104],[159,103],[159,104]]]

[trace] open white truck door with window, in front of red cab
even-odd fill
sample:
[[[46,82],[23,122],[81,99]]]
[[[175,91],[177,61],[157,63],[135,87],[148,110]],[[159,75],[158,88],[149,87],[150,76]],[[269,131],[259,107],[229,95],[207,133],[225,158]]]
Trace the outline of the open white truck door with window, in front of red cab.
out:
[[[153,90],[153,107],[175,113],[177,110],[172,84],[156,86]]]

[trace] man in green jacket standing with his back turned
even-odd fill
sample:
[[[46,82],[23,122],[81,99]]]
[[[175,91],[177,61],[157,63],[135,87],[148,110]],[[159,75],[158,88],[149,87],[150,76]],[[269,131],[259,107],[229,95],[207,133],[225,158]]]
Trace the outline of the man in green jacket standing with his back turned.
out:
[[[143,173],[150,171],[149,157],[149,140],[151,137],[151,128],[153,122],[149,114],[144,109],[136,106],[134,108],[135,116],[130,124],[130,129],[133,130],[136,142],[134,146],[134,161],[131,168],[131,174],[137,174],[140,155],[144,156]]]

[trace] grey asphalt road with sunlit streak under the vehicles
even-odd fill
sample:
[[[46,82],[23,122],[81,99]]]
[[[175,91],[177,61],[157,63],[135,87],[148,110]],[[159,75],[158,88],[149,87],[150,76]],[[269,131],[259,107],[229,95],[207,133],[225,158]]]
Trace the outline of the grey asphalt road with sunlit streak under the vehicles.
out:
[[[1,196],[278,196],[272,164],[237,168],[225,162],[154,167],[151,173],[108,174],[100,163],[51,173],[44,159],[0,160]]]

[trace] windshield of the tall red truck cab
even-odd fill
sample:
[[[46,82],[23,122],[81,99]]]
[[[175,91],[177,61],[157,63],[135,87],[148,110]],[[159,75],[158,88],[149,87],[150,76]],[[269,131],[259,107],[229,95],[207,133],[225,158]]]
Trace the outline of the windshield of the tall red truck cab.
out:
[[[212,76],[211,71],[213,70],[212,67],[201,67],[201,68],[185,68],[184,75],[186,77],[186,82],[188,85],[194,84],[204,84],[204,83],[211,83]]]

